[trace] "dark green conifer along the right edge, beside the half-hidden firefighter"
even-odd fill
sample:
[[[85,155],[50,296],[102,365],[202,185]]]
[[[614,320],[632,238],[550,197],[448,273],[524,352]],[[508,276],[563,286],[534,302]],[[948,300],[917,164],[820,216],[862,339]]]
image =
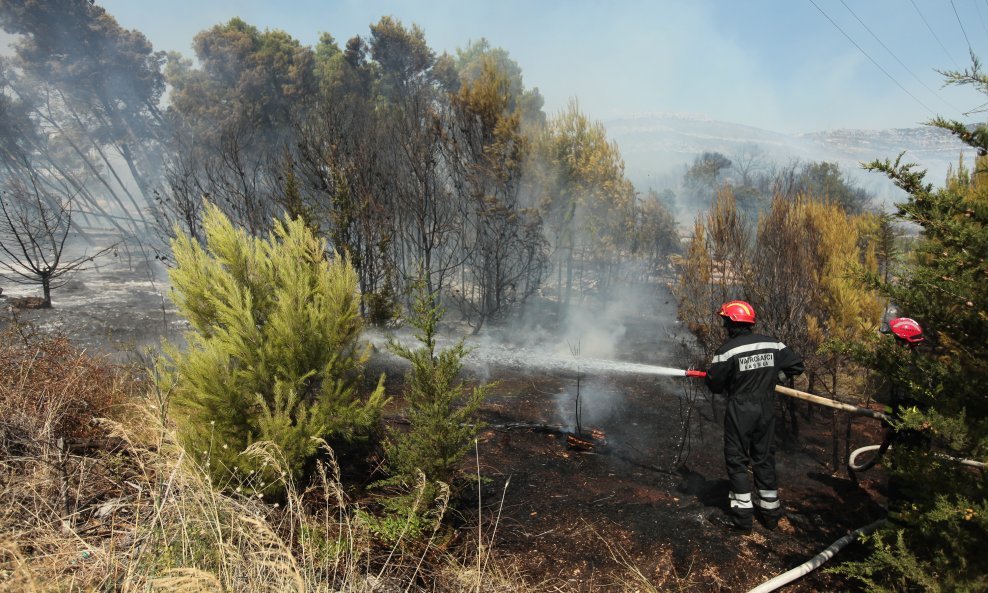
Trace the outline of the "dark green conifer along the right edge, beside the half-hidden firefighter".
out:
[[[947,76],[988,94],[977,60],[972,70]],[[986,126],[930,123],[988,153]],[[909,194],[898,215],[919,225],[922,235],[899,278],[874,280],[902,315],[920,322],[930,346],[911,355],[886,340],[871,360],[918,402],[897,428],[919,431],[931,446],[892,445],[888,471],[908,484],[908,504],[871,539],[868,559],[840,571],[873,591],[986,591],[988,480],[984,469],[958,459],[988,461],[988,159],[979,157],[973,172],[962,161],[935,189],[924,181],[925,172],[901,158],[868,168]]]

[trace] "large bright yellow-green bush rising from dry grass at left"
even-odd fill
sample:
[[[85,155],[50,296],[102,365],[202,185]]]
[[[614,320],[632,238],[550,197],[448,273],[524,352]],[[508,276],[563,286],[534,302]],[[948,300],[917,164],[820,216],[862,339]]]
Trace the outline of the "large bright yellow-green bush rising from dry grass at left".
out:
[[[366,438],[378,425],[383,376],[361,393],[357,276],[327,260],[301,219],[260,239],[206,204],[203,228],[205,247],[181,233],[172,242],[172,294],[191,329],[186,349],[166,345],[171,411],[181,443],[220,484],[277,490],[302,475],[320,439]],[[243,454],[258,441],[279,447],[278,474]]]

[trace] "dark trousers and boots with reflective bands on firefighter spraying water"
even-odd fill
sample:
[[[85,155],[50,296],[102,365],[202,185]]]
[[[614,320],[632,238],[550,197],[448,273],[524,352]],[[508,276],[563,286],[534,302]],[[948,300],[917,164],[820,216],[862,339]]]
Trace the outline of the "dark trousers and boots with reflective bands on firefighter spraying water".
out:
[[[750,527],[757,505],[769,521],[782,514],[775,478],[775,406],[772,397],[747,399],[731,397],[724,415],[724,460],[731,482],[730,517],[736,524]],[[748,463],[755,475],[757,496],[753,497]]]

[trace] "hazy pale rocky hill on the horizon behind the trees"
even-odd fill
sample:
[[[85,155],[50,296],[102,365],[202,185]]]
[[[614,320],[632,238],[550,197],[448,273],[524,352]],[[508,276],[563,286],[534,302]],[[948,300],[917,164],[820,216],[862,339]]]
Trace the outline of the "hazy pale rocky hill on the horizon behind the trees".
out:
[[[939,184],[948,167],[956,167],[961,153],[966,161],[974,158],[974,151],[949,132],[929,126],[784,134],[677,114],[650,114],[603,123],[608,136],[621,148],[628,178],[641,190],[676,187],[685,167],[703,152],[720,152],[733,160],[757,147],[766,163],[781,165],[793,159],[836,162],[887,204],[901,199],[902,192],[883,176],[863,171],[861,162],[895,159],[906,151],[904,160],[919,164],[928,171],[927,179]]]

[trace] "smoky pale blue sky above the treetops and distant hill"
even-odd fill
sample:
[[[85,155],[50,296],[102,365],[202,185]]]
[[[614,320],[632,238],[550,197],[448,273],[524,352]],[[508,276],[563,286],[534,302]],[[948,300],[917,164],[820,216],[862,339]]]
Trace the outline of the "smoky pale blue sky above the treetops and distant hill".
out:
[[[97,0],[156,49],[192,55],[199,31],[239,16],[306,45],[342,46],[391,15],[437,52],[487,38],[538,87],[602,121],[690,113],[779,132],[912,127],[986,97],[936,69],[988,60],[988,0]],[[831,22],[831,19],[833,22]],[[835,24],[837,26],[835,26]],[[839,28],[838,28],[839,26]],[[843,32],[842,32],[843,31]]]

